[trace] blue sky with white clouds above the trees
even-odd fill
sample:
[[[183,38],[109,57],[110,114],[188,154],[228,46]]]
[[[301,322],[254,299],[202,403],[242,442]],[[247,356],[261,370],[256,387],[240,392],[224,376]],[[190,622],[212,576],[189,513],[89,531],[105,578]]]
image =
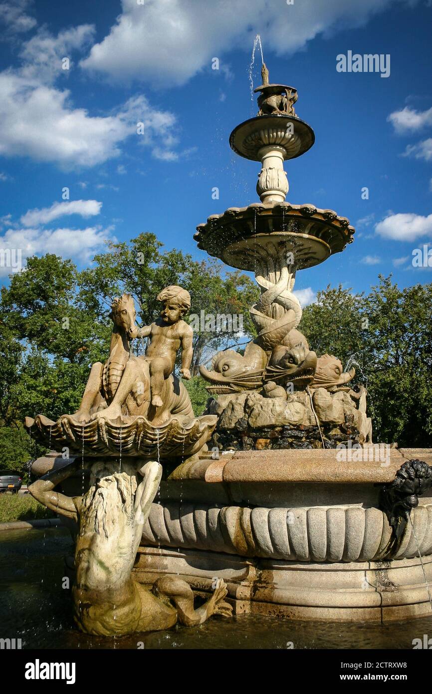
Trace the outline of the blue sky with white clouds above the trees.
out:
[[[316,134],[285,164],[287,200],[356,227],[343,253],[298,273],[301,298],[329,283],[368,291],[379,273],[431,281],[411,263],[432,241],[430,1],[16,0],[0,1],[0,20],[0,248],[82,267],[103,239],[151,231],[204,257],[196,225],[258,201],[259,164],[228,137],[257,112],[259,33],[270,81],[297,88]],[[389,54],[390,76],[338,72],[347,51]]]

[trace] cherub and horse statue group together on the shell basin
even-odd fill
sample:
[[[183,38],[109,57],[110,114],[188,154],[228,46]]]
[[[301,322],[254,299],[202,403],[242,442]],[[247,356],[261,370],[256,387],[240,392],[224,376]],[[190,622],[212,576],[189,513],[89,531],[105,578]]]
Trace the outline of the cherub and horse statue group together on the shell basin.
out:
[[[110,356],[105,364],[93,364],[80,408],[71,418],[81,422],[98,418],[114,421],[122,414],[142,415],[158,424],[164,423],[170,414],[194,418],[187,390],[173,374],[175,358],[182,348],[180,372],[183,378],[191,378],[193,330],[182,320],[190,308],[191,297],[186,289],[171,285],[162,289],[157,298],[163,303],[160,317],[141,329],[135,325],[132,296],[123,294],[114,300]],[[130,352],[133,337],[150,337],[144,357]],[[153,412],[148,411],[150,404]],[[69,415],[63,417],[67,418]]]

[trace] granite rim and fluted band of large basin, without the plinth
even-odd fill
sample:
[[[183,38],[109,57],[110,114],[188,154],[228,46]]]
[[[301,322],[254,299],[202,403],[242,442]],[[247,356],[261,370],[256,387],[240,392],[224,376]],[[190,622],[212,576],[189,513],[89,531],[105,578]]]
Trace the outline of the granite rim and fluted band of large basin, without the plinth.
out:
[[[142,544],[286,561],[378,561],[392,534],[379,491],[411,455],[391,449],[384,462],[344,464],[335,450],[281,450],[188,462],[161,484]],[[420,497],[411,521],[414,532],[408,524],[393,559],[432,554],[432,496]]]

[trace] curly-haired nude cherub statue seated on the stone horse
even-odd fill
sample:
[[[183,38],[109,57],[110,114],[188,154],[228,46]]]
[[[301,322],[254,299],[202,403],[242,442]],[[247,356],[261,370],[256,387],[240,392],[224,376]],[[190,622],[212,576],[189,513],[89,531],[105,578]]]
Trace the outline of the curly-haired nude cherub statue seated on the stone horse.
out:
[[[189,291],[178,285],[171,285],[159,292],[157,301],[163,304],[160,318],[144,328],[130,330],[129,337],[150,337],[146,359],[150,367],[151,404],[153,407],[162,407],[164,380],[173,373],[179,348],[182,348],[180,373],[186,380],[191,378],[189,367],[193,355],[193,331],[191,326],[182,320],[182,316],[191,307]]]

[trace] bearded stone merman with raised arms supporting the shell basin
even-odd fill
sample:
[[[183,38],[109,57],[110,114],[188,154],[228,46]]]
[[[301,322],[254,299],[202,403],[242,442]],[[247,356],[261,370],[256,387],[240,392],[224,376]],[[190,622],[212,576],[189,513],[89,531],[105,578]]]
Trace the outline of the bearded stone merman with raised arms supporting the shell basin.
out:
[[[136,467],[130,462],[119,466],[99,459],[92,465],[89,490],[83,496],[71,498],[54,491],[79,467],[80,457],[33,482],[28,490],[47,508],[78,523],[72,596],[74,619],[83,632],[120,636],[169,629],[177,622],[200,625],[212,614],[231,615],[223,579],[216,581],[207,602],[194,609],[193,591],[179,577],[161,577],[149,591],[132,576],[161,465],[142,464],[141,459]]]

